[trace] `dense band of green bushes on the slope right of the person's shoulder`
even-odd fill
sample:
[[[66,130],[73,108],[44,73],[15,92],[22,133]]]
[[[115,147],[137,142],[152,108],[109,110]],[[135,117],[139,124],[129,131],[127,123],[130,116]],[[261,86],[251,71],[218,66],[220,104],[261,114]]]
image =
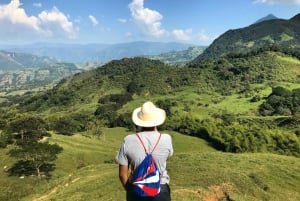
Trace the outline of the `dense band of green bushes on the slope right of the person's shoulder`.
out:
[[[225,152],[273,152],[300,156],[300,139],[285,130],[272,129],[265,122],[238,120],[200,120],[192,116],[173,117],[164,128],[205,139],[214,148]],[[223,117],[224,118],[224,117]]]

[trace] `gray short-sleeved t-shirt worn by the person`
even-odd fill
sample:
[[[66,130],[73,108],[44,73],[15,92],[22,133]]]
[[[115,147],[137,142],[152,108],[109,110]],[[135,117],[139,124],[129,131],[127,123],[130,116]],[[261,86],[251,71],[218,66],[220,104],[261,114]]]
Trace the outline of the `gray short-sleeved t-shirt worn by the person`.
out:
[[[147,152],[151,152],[159,138],[160,133],[156,131],[138,133],[143,141]],[[167,159],[173,155],[172,138],[169,134],[162,134],[161,138],[152,152],[160,173],[161,183],[169,183],[169,175],[166,170]],[[115,160],[120,165],[127,165],[135,169],[145,158],[146,153],[143,145],[137,138],[136,134],[127,135],[118,151]],[[130,178],[129,178],[130,179]]]

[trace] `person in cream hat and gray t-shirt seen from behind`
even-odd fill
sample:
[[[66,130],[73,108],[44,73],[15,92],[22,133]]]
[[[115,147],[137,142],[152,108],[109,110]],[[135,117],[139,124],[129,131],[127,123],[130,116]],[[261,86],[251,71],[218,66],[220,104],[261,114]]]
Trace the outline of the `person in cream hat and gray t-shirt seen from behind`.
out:
[[[151,101],[146,101],[132,113],[132,121],[141,128],[141,132],[127,135],[115,157],[119,164],[119,179],[126,190],[127,201],[171,201],[170,178],[166,164],[167,159],[173,155],[172,138],[169,134],[160,134],[158,131],[158,126],[163,124],[165,119],[166,112]],[[136,135],[141,138],[147,152],[154,148],[160,137],[152,155],[161,174],[161,193],[154,198],[138,197],[130,190],[132,173],[146,156],[143,145]]]

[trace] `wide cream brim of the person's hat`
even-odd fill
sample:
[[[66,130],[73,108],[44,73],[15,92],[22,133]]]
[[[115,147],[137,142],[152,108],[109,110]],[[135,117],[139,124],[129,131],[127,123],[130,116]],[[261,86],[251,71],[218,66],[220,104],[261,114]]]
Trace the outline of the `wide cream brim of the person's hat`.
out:
[[[139,116],[142,107],[136,108],[132,113],[132,121],[135,125],[140,127],[155,127],[164,123],[166,119],[166,112],[160,108],[156,108],[153,113],[155,118],[151,121],[144,121]]]

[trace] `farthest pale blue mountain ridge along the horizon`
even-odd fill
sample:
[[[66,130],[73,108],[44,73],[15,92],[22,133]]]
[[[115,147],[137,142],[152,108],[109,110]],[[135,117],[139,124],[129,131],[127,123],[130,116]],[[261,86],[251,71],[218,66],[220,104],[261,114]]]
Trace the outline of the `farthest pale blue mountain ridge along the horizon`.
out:
[[[131,42],[119,44],[32,44],[8,46],[6,50],[47,56],[64,62],[87,61],[108,62],[124,57],[158,55],[170,51],[181,51],[194,46],[183,43]]]

